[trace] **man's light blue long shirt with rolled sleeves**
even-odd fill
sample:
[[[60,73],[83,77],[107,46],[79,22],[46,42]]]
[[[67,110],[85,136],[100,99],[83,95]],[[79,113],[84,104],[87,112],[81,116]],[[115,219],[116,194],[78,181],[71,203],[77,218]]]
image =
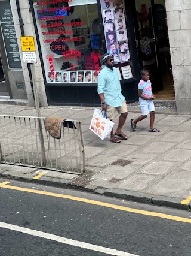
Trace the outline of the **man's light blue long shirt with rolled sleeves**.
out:
[[[98,74],[98,94],[104,94],[105,103],[112,107],[122,106],[125,97],[121,93],[118,71],[113,67],[113,71],[106,66]]]

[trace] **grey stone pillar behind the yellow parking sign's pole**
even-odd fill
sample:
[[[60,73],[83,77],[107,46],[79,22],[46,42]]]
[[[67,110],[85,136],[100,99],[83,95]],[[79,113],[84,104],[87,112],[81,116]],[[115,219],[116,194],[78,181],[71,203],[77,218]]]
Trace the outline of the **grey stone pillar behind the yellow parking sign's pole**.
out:
[[[23,56],[22,56],[22,52],[21,52],[21,43],[20,43],[21,29],[20,29],[20,25],[19,25],[16,1],[10,0],[10,4],[11,4],[11,10],[13,13],[14,25],[15,25],[15,29],[16,29],[17,41],[18,41],[18,46],[19,46],[20,58],[21,58],[21,65],[22,65],[22,69],[23,69],[24,82],[26,85],[27,98],[29,101],[29,106],[34,106],[32,88],[30,85],[29,71],[27,68],[27,64],[23,62]],[[26,35],[26,36],[31,35],[31,36],[35,37],[37,63],[32,64],[35,66],[34,72],[33,72],[33,74],[34,74],[33,83],[36,84],[37,89],[38,89],[40,106],[47,106],[47,96],[46,96],[46,92],[45,92],[44,79],[42,76],[41,61],[39,59],[38,46],[36,43],[36,35],[35,35],[35,29],[34,29],[34,25],[33,25],[32,14],[29,11],[29,8],[30,8],[29,1],[28,0],[19,0],[19,5],[20,5],[21,17],[23,19],[24,35]]]

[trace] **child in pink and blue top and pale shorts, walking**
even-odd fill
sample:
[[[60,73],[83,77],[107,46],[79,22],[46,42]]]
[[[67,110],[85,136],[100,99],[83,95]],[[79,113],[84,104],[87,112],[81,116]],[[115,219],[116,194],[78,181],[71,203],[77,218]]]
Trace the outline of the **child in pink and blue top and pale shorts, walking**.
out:
[[[141,70],[141,80],[138,83],[138,96],[142,115],[137,119],[131,119],[131,129],[136,131],[137,122],[143,120],[150,113],[150,132],[159,132],[159,129],[153,127],[155,121],[155,106],[153,100],[155,95],[152,93],[150,74],[146,69]]]

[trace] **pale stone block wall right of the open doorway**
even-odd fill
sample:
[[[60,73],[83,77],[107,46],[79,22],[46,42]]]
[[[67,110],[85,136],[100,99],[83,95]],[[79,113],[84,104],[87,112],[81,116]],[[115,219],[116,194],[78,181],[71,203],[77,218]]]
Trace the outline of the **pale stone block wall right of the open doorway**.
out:
[[[165,0],[177,113],[191,115],[191,1]]]

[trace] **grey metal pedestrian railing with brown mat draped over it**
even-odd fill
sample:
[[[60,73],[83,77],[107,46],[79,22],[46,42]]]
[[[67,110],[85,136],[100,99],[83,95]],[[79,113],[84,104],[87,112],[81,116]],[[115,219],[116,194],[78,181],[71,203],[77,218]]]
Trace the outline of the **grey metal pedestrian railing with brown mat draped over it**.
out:
[[[0,115],[0,155],[5,164],[47,168],[68,173],[85,172],[81,122],[61,129],[55,139],[45,129],[45,118]],[[71,126],[71,125],[70,125]]]

